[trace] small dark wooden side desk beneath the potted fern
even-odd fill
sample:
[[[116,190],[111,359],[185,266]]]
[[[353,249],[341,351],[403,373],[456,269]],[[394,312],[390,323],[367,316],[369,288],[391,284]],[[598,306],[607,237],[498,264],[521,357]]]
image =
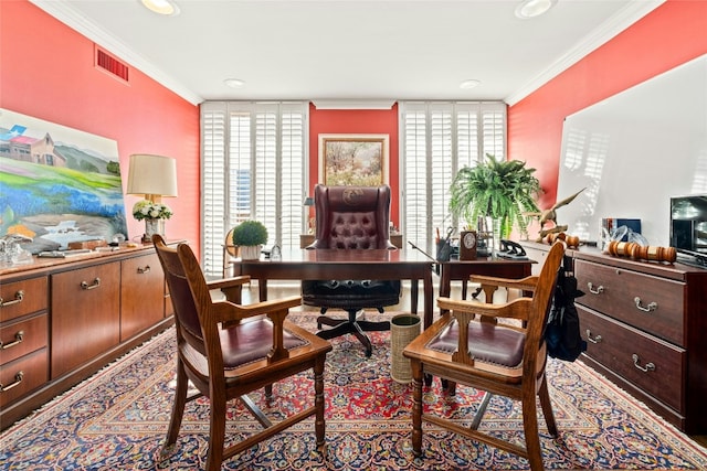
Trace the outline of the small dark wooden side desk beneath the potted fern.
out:
[[[466,281],[471,275],[518,279],[530,276],[535,263],[535,260],[492,257],[443,261],[440,264],[440,297],[450,296],[452,280],[464,281],[462,293],[466,298]]]

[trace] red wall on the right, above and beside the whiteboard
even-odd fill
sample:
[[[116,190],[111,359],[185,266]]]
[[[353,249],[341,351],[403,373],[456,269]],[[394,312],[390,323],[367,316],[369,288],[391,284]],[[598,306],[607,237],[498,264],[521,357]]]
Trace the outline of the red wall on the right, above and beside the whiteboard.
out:
[[[537,169],[540,207],[557,201],[564,117],[707,53],[706,26],[707,1],[668,0],[509,107],[508,156]]]

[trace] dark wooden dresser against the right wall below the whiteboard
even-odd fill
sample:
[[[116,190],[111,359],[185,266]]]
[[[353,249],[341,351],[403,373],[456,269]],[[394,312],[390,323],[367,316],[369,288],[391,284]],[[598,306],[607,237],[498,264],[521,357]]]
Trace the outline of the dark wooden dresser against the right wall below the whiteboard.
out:
[[[548,245],[525,244],[540,261]],[[707,432],[707,269],[568,250],[588,365],[687,433]]]

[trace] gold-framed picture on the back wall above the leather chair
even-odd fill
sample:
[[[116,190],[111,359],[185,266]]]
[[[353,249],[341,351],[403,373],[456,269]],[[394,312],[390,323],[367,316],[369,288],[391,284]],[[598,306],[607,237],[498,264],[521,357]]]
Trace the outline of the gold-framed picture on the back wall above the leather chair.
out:
[[[326,185],[388,183],[388,135],[319,135],[319,179]]]

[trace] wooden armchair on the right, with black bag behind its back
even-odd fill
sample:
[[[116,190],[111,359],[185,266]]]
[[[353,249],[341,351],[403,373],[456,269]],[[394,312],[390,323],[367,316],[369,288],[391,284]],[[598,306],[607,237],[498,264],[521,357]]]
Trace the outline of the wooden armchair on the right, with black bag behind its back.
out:
[[[550,435],[557,437],[545,377],[547,351],[544,331],[563,253],[564,245],[556,243],[540,275],[519,280],[519,286],[514,286],[511,280],[496,279],[496,286],[534,291],[532,298],[523,297],[505,304],[439,298],[440,309],[449,312],[403,350],[403,355],[411,360],[412,366],[412,448],[416,456],[422,454],[422,421],[425,420],[469,439],[525,457],[534,471],[544,469],[536,396],[540,398]],[[482,280],[479,277],[477,280],[489,290],[495,289],[492,278],[484,277]],[[495,320],[498,318],[515,319],[523,325],[497,323]],[[425,413],[422,405],[424,375],[447,379],[452,385],[451,394],[456,383],[485,390],[488,394],[484,403],[487,403],[490,395],[520,400],[526,447],[478,430],[485,410],[484,403],[468,427]]]

